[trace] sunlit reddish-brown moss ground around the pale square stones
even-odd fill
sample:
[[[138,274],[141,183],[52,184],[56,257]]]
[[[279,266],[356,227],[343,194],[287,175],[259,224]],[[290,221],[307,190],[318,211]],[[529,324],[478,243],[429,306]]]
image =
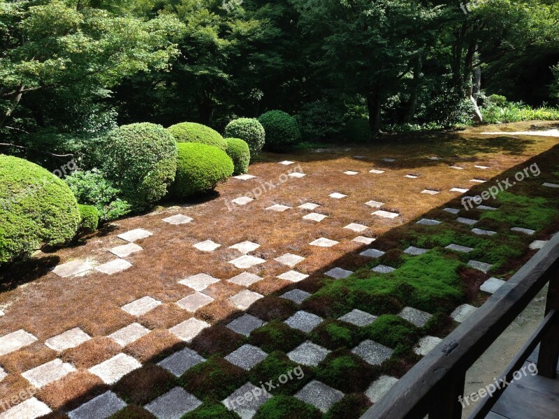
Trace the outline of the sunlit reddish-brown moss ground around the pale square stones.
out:
[[[530,124],[513,125],[510,127],[513,131],[521,131]],[[263,265],[247,270],[264,278],[263,281],[250,286],[250,290],[266,295],[281,289],[287,291],[300,288],[312,293],[317,291],[322,281],[317,272],[324,272],[332,265],[354,270],[370,261],[354,254],[363,248],[362,244],[351,241],[357,235],[379,237],[395,227],[428,214],[435,208],[444,207],[449,201],[460,196],[449,191],[453,187],[467,189],[476,186],[481,191],[484,186],[474,184],[470,179],[499,178],[502,172],[521,166],[523,162],[549,151],[558,143],[556,138],[493,138],[477,135],[481,131],[502,128],[503,126],[484,126],[463,133],[391,135],[377,145],[354,146],[349,151],[345,151],[344,147],[337,147],[325,153],[263,154],[250,168],[251,174],[258,176],[258,179],[246,182],[231,179],[227,184],[219,186],[219,197],[213,200],[182,207],[169,205],[150,214],[123,219],[96,235],[87,237],[79,246],[52,253],[38,253],[29,263],[10,267],[8,272],[0,274],[0,281],[3,281],[0,307],[6,311],[6,316],[0,318],[0,336],[24,329],[38,337],[39,341],[0,357],[0,365],[10,373],[0,383],[0,398],[9,397],[10,394],[27,388],[27,382],[17,373],[55,359],[57,353],[42,343],[45,339],[71,328],[79,327],[94,337],[91,343],[61,354],[62,359],[74,362],[76,367],[81,369],[114,355],[118,348],[103,336],[134,321],[155,329],[122,350],[140,362],[161,359],[166,353],[184,346],[165,330],[192,316],[174,304],[192,292],[178,284],[178,281],[201,272],[222,280],[242,272],[243,270],[238,270],[228,263],[229,260],[240,256],[238,251],[227,249],[233,244],[245,240],[257,242],[261,247],[251,254],[267,260]],[[546,159],[557,161],[558,154],[556,149],[556,152]],[[354,155],[363,155],[365,159],[354,159]],[[429,160],[429,156],[438,156],[442,160]],[[397,161],[387,163],[382,161],[385,157],[393,157]],[[264,193],[259,200],[228,211],[225,200],[230,202],[261,186],[260,180],[277,183],[280,175],[296,166],[277,164],[285,159],[300,163],[307,176],[303,179],[289,178],[284,184]],[[465,169],[449,168],[453,164]],[[478,164],[490,168],[474,168]],[[369,173],[372,168],[386,172],[374,175]],[[360,174],[344,175],[346,170],[355,170]],[[409,173],[419,175],[419,178],[405,178]],[[520,184],[518,191],[522,188]],[[424,195],[421,194],[423,189],[436,189],[441,193],[436,196]],[[348,197],[342,200],[329,198],[328,195],[333,192],[344,193]],[[386,220],[371,216],[370,213],[375,209],[365,205],[368,200],[385,203],[383,210],[399,212],[400,217]],[[309,212],[296,207],[306,202],[321,205],[315,212],[326,214],[328,218],[321,223],[303,220],[301,217]],[[276,203],[289,205],[293,210],[282,213],[264,210]],[[454,205],[456,207],[459,204]],[[193,217],[194,221],[183,226],[171,226],[161,222],[164,217],[177,213],[187,214]],[[437,218],[441,219],[441,216],[444,214],[437,212]],[[361,223],[369,228],[363,233],[354,233],[343,228],[349,223]],[[123,244],[116,236],[133,228],[145,228],[154,235],[145,240],[138,240],[137,244],[145,250],[126,258],[133,264],[129,270],[112,277],[94,272],[84,277],[68,279],[61,279],[48,272],[49,267],[75,258],[91,258],[96,263],[111,260],[114,257],[107,249]],[[552,231],[545,230],[542,234],[544,233],[549,234]],[[309,245],[312,240],[323,236],[337,240],[340,244],[331,248]],[[208,239],[222,244],[222,247],[214,253],[203,253],[192,247],[192,244]],[[397,240],[398,237],[393,237],[392,243]],[[390,244],[387,237],[384,245],[389,249]],[[379,240],[379,245],[383,245],[383,240]],[[273,258],[287,252],[306,258],[295,269],[313,274],[309,280],[291,284],[276,278],[278,274],[291,268],[273,261]],[[467,277],[467,281],[470,281],[468,290],[472,297],[476,297],[475,289],[483,278]],[[242,287],[226,281],[210,287],[208,292],[216,300],[197,311],[196,317],[209,323],[217,323],[235,315],[238,310],[227,298],[241,289]],[[145,295],[150,295],[164,304],[139,319],[120,309],[122,305]],[[289,307],[282,304],[273,305],[275,309],[270,314],[270,319],[284,318],[289,314]],[[256,304],[252,310],[255,314],[265,317],[263,303]],[[448,328],[448,325],[444,327]],[[209,331],[205,334],[214,337]],[[215,337],[221,335],[225,336],[226,332],[216,333]],[[212,351],[210,340],[199,339],[193,346],[198,346],[206,355],[222,354],[228,349]],[[238,344],[240,342],[234,342],[231,347]],[[412,360],[401,360],[397,364],[393,365],[393,371],[401,374],[412,364]],[[80,371],[80,374],[83,373]],[[71,376],[68,381],[74,379],[75,376]],[[87,388],[87,382],[84,380],[84,388]],[[46,392],[46,389],[42,390],[44,400],[57,407],[68,404],[73,397],[80,395],[81,387],[77,386],[75,393],[68,392],[66,398],[60,396],[61,391],[57,386],[64,385],[65,382],[54,383],[52,389],[48,386],[49,392]]]

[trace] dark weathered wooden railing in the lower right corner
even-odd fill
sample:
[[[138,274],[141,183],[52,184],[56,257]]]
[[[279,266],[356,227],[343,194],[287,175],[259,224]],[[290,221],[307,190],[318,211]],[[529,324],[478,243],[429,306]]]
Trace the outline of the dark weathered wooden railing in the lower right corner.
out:
[[[544,321],[500,378],[511,376],[539,347],[537,371],[554,378],[559,359],[559,233],[514,277],[393,385],[361,419],[460,419],[466,372],[549,283]],[[504,391],[484,397],[470,419],[485,418]]]

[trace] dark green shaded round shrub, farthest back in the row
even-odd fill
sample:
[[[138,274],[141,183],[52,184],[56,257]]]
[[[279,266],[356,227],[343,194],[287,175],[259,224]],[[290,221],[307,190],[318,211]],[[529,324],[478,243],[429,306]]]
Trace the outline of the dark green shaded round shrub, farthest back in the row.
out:
[[[266,131],[266,148],[282,152],[301,138],[295,118],[282,110],[270,110],[259,117]]]

